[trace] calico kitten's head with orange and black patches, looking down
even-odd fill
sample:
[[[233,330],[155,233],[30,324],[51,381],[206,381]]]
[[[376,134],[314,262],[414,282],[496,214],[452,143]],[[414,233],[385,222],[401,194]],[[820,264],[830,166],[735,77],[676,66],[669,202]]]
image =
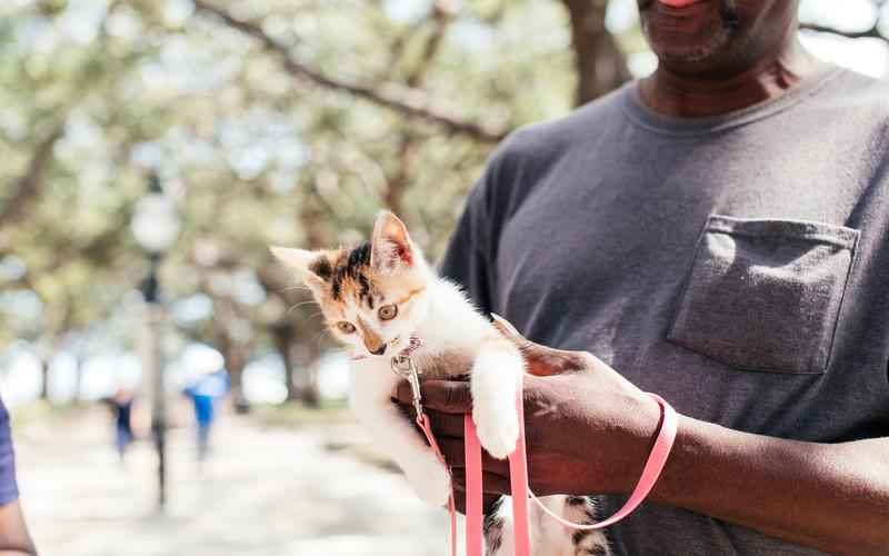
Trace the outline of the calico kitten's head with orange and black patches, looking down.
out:
[[[380,212],[371,240],[353,249],[271,251],[309,287],[352,355],[397,355],[426,317],[432,274],[391,212]]]

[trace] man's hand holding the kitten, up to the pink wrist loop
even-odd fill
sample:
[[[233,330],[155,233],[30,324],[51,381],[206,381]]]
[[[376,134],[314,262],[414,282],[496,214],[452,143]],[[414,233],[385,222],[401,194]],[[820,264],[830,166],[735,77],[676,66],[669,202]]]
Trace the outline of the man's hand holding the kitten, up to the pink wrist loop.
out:
[[[629,493],[657,433],[657,403],[591,354],[548,348],[502,319],[495,322],[522,350],[531,374],[523,389],[531,489],[539,495]],[[463,416],[472,410],[469,384],[427,380],[422,396],[456,487],[462,489]],[[411,404],[407,383],[396,398]],[[509,463],[483,453],[482,467],[486,492],[509,494]]]

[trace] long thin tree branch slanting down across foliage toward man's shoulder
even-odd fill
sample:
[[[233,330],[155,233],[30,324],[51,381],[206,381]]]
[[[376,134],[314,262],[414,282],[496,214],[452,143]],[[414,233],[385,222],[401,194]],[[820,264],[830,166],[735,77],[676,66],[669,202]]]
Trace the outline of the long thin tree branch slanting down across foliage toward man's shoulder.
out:
[[[258,24],[234,18],[226,10],[211,6],[206,0],[194,0],[194,7],[198,11],[216,16],[227,26],[259,41],[264,50],[280,58],[287,72],[294,78],[306,79],[326,89],[348,92],[403,115],[438,123],[449,131],[466,135],[480,141],[499,142],[506,137],[506,131],[488,129],[479,123],[463,120],[449,110],[433,107],[427,92],[420,89],[394,85],[374,89],[326,76],[294,59],[284,44],[270,37]]]

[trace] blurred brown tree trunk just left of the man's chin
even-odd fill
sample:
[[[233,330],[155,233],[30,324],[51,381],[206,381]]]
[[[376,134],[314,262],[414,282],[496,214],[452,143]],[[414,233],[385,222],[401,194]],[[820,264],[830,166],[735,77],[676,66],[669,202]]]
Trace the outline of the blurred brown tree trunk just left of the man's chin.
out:
[[[630,79],[623,53],[605,27],[607,0],[562,0],[571,20],[577,69],[576,106],[606,95]]]

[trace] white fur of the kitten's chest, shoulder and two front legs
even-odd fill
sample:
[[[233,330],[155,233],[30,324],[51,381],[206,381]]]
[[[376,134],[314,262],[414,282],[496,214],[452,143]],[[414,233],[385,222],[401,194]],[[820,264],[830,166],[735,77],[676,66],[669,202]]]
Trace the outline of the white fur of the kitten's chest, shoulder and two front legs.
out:
[[[508,340],[479,344],[478,338],[499,336],[479,315],[460,289],[438,277],[428,286],[426,318],[414,322],[422,345],[412,358],[422,371],[423,361],[463,354],[475,363],[471,370],[472,420],[479,441],[497,458],[507,457],[519,437],[516,396],[525,370],[518,348]],[[383,447],[404,469],[411,486],[429,504],[441,506],[450,496],[448,469],[436,459],[417,435],[412,423],[392,404],[390,397],[401,380],[392,373],[389,357],[356,360],[352,408],[359,423],[370,430],[389,435]],[[459,370],[459,368],[458,368]],[[441,377],[446,378],[446,377]],[[376,436],[376,435],[374,435]]]

